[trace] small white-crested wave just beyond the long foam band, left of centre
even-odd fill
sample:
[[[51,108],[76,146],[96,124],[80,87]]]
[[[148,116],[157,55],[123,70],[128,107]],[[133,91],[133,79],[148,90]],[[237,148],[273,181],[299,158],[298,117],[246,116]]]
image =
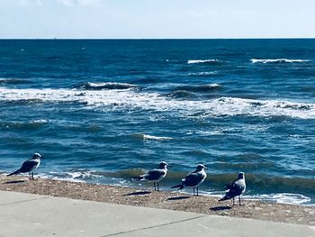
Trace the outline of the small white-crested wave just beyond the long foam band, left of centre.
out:
[[[117,83],[117,82],[87,82],[83,85],[80,85],[78,88],[85,90],[126,90],[138,88],[136,85],[128,83]]]

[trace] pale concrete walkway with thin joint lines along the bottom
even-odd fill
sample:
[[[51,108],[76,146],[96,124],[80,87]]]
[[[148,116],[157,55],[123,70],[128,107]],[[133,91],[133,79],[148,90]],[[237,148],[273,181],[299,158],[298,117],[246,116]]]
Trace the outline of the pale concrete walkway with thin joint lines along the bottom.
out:
[[[0,236],[315,236],[315,227],[0,191]]]

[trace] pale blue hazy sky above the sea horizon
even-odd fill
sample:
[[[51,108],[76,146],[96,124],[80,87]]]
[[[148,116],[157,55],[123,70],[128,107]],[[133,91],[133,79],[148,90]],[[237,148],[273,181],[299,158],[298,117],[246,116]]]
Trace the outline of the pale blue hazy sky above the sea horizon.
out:
[[[0,0],[0,39],[315,38],[315,0]]]

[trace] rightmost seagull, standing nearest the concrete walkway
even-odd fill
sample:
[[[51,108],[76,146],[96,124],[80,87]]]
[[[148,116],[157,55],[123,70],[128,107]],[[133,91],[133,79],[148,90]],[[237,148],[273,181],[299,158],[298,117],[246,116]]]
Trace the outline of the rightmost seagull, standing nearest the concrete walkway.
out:
[[[239,172],[238,178],[229,183],[225,196],[220,198],[219,201],[229,200],[230,198],[233,198],[234,205],[234,197],[238,196],[238,203],[240,205],[240,196],[245,192],[245,189],[245,174],[243,172]]]

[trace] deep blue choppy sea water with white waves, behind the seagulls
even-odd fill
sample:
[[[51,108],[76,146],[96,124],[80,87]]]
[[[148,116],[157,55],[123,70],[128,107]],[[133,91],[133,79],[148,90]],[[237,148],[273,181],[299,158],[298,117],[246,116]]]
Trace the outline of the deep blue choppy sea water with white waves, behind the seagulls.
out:
[[[251,198],[315,204],[315,40],[0,41],[0,170],[144,186],[198,163]]]

